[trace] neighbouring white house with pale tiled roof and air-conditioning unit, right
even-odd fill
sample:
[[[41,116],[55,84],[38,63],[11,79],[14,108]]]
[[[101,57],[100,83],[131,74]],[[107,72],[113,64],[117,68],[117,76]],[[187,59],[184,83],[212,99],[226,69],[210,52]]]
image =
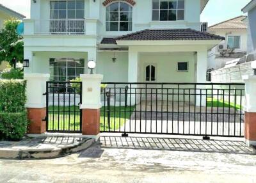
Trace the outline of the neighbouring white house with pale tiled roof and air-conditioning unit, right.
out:
[[[226,39],[209,51],[208,68],[223,68],[228,61],[246,55],[247,24],[244,19],[246,16],[239,16],[209,27],[209,33]]]

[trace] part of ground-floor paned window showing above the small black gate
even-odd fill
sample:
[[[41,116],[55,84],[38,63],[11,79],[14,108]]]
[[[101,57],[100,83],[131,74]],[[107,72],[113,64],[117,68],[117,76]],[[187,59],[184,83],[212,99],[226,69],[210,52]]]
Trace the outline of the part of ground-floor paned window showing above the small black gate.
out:
[[[70,81],[84,74],[84,59],[51,58],[51,81]]]

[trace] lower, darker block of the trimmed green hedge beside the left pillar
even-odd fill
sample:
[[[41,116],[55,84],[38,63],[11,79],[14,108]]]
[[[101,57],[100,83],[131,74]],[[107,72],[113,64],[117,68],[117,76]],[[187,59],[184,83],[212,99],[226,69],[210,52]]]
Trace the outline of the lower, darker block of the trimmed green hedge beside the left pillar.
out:
[[[27,131],[28,119],[23,113],[0,113],[0,139],[19,140]]]

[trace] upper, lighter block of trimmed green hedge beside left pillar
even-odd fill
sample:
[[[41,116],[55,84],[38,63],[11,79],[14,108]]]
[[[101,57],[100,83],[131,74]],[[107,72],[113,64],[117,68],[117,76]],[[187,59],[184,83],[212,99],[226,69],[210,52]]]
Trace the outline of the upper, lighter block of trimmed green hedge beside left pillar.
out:
[[[26,81],[0,80],[0,111],[20,113],[25,111]]]

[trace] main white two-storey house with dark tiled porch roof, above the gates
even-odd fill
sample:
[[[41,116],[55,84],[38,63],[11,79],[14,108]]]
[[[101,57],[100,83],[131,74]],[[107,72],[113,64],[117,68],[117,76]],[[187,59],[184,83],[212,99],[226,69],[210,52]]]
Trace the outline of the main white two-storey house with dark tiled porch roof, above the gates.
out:
[[[207,52],[225,38],[200,31],[208,0],[31,1],[25,73],[69,81],[95,72],[113,82],[206,82]]]

